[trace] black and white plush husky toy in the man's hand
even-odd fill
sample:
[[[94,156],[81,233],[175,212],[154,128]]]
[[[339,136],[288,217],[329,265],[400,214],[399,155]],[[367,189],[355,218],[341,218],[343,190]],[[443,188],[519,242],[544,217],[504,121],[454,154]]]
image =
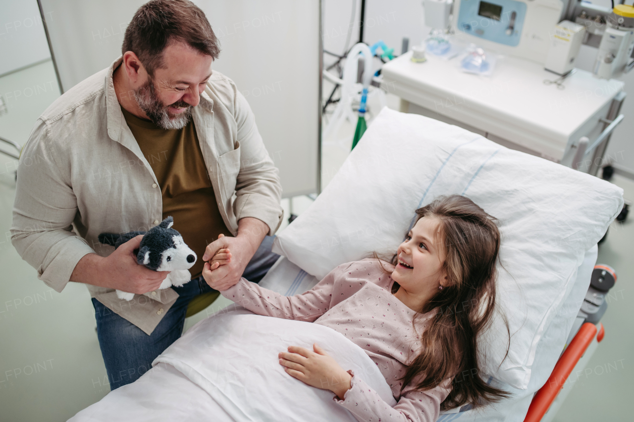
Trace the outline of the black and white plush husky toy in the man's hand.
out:
[[[191,279],[188,271],[196,262],[196,253],[185,245],[183,236],[172,229],[174,219],[170,216],[150,231],[131,231],[126,234],[101,233],[98,239],[104,245],[118,248],[123,243],[143,234],[139,249],[135,249],[136,262],[154,271],[171,271],[163,280],[159,289],[182,286]],[[117,297],[132,300],[134,293],[117,290]]]

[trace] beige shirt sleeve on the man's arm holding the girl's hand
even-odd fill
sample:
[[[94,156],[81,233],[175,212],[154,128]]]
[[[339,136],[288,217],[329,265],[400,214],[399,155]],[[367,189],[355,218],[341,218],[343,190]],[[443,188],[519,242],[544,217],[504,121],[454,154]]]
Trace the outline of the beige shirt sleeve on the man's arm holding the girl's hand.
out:
[[[283,216],[279,170],[264,147],[247,99],[237,89],[234,110],[242,150],[234,203],[236,219],[255,217],[265,222],[268,234],[273,235]]]

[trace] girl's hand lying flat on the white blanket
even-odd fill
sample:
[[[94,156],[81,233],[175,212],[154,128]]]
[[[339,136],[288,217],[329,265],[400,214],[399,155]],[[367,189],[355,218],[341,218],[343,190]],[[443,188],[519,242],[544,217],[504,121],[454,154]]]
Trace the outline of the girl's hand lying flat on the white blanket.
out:
[[[288,353],[281,352],[280,365],[290,376],[297,378],[312,387],[330,390],[344,400],[344,394],[351,388],[351,374],[344,371],[337,361],[328,356],[317,343],[313,350],[304,347],[290,346]]]

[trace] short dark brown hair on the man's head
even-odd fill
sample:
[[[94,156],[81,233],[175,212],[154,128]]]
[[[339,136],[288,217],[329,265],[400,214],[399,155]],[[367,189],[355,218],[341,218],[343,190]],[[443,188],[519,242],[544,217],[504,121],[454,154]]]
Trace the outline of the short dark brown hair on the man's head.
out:
[[[134,13],[127,25],[121,53],[132,51],[152,76],[164,67],[163,50],[171,41],[182,41],[200,53],[220,54],[216,34],[205,13],[188,0],[152,0]]]

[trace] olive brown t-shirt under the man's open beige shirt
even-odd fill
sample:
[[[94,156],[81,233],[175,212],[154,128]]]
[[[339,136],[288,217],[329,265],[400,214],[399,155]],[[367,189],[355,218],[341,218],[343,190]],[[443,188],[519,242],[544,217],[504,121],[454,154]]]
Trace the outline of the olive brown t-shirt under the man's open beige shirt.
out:
[[[160,129],[150,120],[121,108],[141,152],[157,177],[163,196],[163,218],[174,217],[173,229],[196,252],[191,278],[202,274],[202,255],[218,234],[232,236],[218,210],[216,195],[200,150],[193,120],[183,129]]]

